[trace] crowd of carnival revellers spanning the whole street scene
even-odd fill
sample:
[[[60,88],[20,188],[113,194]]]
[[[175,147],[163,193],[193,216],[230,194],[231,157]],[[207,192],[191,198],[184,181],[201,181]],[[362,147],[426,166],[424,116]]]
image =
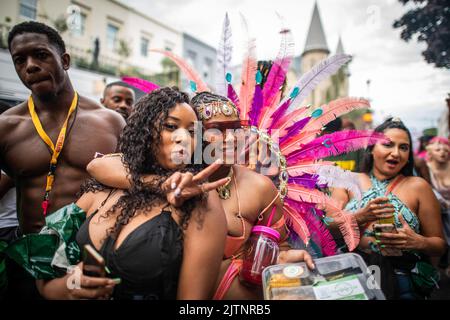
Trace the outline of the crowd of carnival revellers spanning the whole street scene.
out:
[[[190,98],[174,87],[136,99],[135,88],[114,82],[101,106],[73,88],[70,55],[51,27],[18,24],[8,46],[31,95],[0,115],[0,298],[262,299],[261,287],[238,277],[258,225],[280,235],[277,264],[315,268],[309,248],[289,241],[278,178],[238,164],[228,147],[237,139],[229,129],[247,125],[233,99],[201,91]],[[197,122],[213,129],[206,141],[196,138]],[[439,281],[433,264],[450,276],[449,140],[431,139],[420,169],[400,119],[374,131],[385,139],[353,165],[362,198],[338,187],[329,193],[359,228],[353,251],[380,266],[385,296],[425,299]],[[189,161],[198,148],[213,150],[213,162]],[[72,274],[36,277],[6,254],[63,211],[83,217],[70,247],[95,248],[107,274],[82,273],[79,286],[68,286]],[[391,219],[395,232],[375,228],[380,219]],[[84,270],[80,257],[76,263]]]

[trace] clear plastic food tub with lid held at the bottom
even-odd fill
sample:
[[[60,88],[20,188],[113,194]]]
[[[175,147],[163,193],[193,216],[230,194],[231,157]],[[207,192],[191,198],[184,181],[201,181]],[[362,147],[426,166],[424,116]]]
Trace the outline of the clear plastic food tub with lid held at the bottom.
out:
[[[266,300],[385,300],[364,260],[355,253],[304,262],[279,264],[263,271]]]

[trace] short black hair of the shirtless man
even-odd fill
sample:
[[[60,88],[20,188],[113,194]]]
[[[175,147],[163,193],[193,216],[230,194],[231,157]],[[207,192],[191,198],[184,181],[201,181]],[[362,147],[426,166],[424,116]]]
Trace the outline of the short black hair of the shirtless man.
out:
[[[11,42],[16,36],[23,33],[39,33],[46,35],[48,42],[58,48],[59,53],[66,52],[66,45],[64,40],[59,35],[58,31],[49,27],[46,24],[36,21],[25,21],[15,25],[8,34],[8,49],[11,51]]]

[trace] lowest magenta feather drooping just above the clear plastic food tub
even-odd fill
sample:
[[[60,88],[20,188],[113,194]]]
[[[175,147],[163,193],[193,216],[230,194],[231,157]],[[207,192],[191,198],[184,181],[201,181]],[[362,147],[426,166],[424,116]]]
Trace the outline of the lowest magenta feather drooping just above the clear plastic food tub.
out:
[[[299,212],[305,221],[311,240],[320,246],[322,254],[325,256],[331,256],[336,254],[336,243],[330,231],[320,220],[319,216],[315,214],[314,207],[290,199],[286,200],[286,204],[289,204],[291,209]]]

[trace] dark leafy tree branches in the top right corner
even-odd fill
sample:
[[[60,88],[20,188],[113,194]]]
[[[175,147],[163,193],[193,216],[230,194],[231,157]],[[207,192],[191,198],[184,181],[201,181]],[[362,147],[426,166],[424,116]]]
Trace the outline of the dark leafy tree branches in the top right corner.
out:
[[[402,29],[401,38],[409,41],[417,34],[417,40],[427,44],[427,49],[422,52],[425,60],[438,68],[450,69],[449,0],[399,1],[403,5],[415,5],[393,24],[394,28]]]

